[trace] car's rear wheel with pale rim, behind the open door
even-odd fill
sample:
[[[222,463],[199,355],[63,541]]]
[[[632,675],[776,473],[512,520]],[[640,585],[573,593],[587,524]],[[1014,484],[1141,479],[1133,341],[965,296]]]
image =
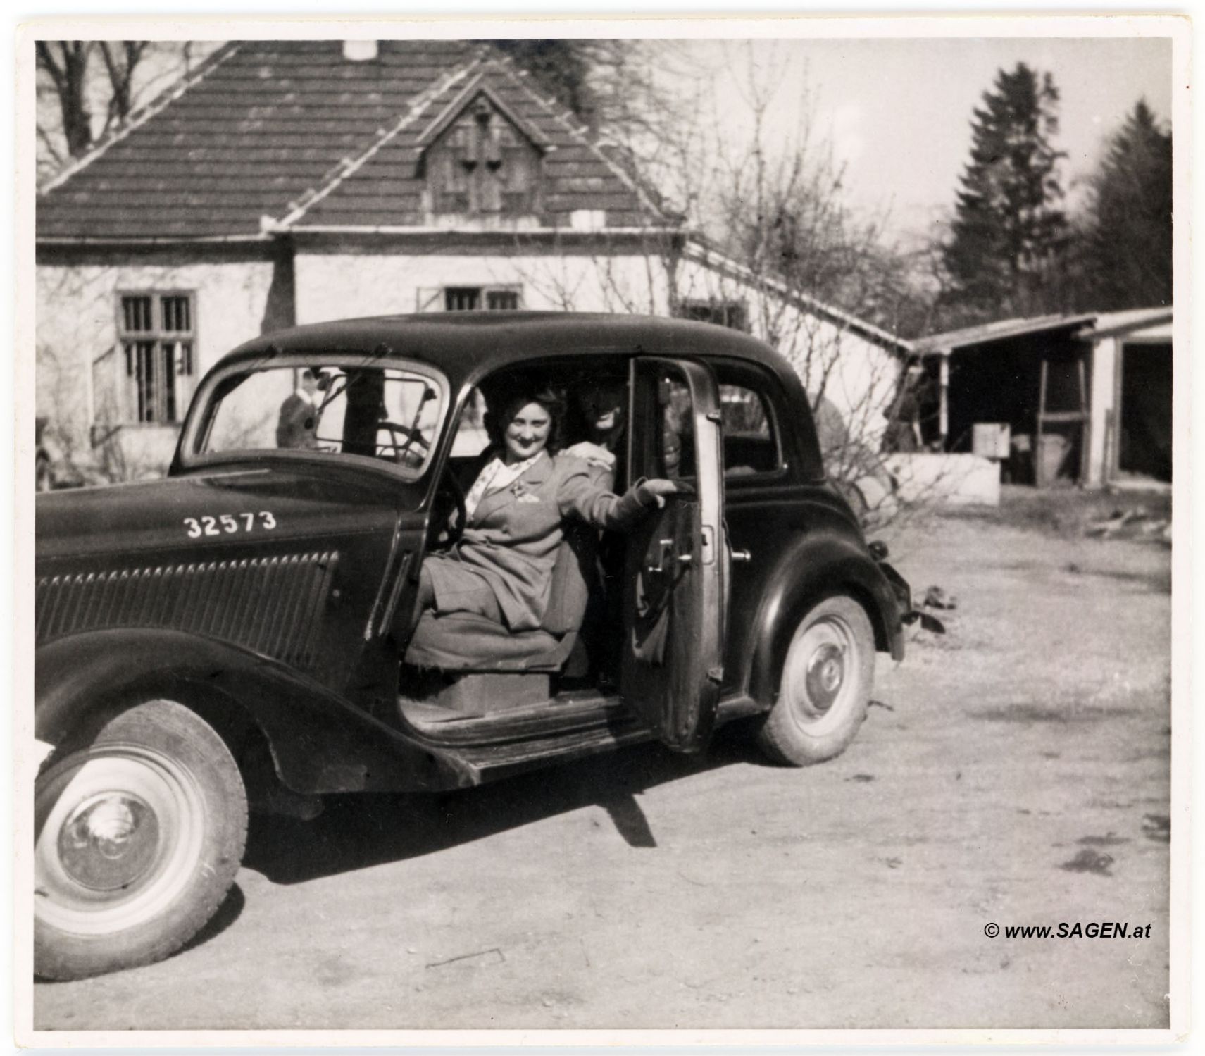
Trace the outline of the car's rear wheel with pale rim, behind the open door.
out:
[[[865,610],[845,596],[819,602],[787,646],[759,746],[794,767],[839,756],[866,717],[874,676],[875,633]]]

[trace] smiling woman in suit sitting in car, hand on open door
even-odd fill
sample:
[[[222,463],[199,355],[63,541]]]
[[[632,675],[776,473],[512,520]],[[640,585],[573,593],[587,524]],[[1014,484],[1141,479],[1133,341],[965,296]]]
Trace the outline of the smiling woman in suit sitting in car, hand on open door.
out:
[[[558,454],[563,405],[547,389],[524,388],[498,405],[496,417],[487,415],[495,446],[465,495],[464,533],[449,551],[423,562],[417,615],[474,612],[531,630],[547,608],[566,518],[627,530],[677,488],[646,480],[616,495],[587,462]]]

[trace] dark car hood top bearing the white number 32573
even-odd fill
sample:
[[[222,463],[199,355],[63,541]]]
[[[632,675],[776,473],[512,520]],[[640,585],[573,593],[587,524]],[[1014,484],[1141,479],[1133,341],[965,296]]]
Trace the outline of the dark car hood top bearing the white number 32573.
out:
[[[253,469],[39,495],[39,562],[92,553],[210,551],[377,530],[421,486],[368,474]],[[222,517],[227,520],[223,521]]]

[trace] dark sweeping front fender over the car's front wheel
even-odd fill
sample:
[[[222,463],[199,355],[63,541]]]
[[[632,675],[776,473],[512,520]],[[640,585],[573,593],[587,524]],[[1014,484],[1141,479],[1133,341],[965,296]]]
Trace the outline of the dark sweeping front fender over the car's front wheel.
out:
[[[34,661],[34,732],[88,738],[137,700],[206,714],[234,708],[266,737],[277,775],[301,793],[434,791],[474,784],[454,756],[427,750],[276,661],[178,630],[112,628],[59,638]]]

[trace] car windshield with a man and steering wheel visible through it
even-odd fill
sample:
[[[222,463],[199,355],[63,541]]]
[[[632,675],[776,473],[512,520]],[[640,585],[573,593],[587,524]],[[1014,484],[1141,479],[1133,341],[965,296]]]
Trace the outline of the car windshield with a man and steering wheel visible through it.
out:
[[[186,456],[292,451],[383,460],[422,476],[447,405],[442,376],[418,364],[331,358],[218,375],[189,426]]]

